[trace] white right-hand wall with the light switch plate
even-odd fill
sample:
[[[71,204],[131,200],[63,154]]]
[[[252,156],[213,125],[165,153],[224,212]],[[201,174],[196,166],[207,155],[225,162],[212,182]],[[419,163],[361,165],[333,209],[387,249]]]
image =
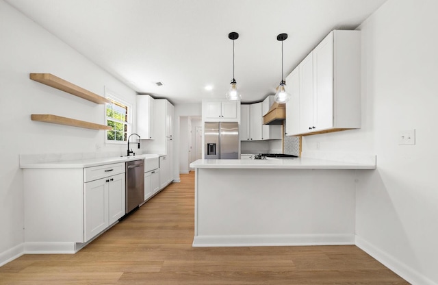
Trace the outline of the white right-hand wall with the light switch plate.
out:
[[[389,0],[362,30],[363,126],[305,150],[375,153],[357,186],[357,245],[413,284],[438,284],[438,1]],[[415,129],[413,146],[398,145]]]

